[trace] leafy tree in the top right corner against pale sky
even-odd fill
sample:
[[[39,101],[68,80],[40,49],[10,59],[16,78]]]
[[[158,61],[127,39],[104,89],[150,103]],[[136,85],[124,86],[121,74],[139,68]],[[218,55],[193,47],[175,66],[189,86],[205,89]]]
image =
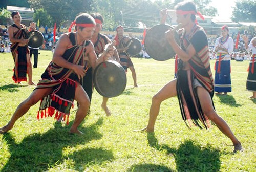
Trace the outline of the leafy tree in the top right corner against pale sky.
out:
[[[240,0],[233,7],[232,20],[234,22],[256,22],[256,1]]]

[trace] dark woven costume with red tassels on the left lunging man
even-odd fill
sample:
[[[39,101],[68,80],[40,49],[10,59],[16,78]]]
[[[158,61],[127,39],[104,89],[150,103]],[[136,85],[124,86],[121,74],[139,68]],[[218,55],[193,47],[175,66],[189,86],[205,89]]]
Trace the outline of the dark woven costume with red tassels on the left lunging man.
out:
[[[73,46],[67,49],[62,57],[75,65],[83,65],[86,46],[90,42],[86,41],[84,46],[78,45],[73,32],[69,33],[69,38]],[[67,116],[68,124],[70,109],[74,105],[78,76],[71,69],[50,62],[41,78],[36,89],[53,87],[53,92],[41,99],[37,119],[53,116],[56,111],[55,119],[59,120],[63,116],[63,120],[65,120]]]

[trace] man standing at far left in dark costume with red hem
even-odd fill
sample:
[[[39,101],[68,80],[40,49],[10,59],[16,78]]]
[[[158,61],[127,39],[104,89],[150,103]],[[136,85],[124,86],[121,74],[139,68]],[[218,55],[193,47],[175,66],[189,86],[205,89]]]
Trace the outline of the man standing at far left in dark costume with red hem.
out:
[[[15,83],[27,81],[27,73],[29,77],[29,85],[35,85],[32,81],[32,63],[29,56],[28,42],[26,35],[29,32],[28,28],[23,25],[22,17],[18,11],[11,14],[14,24],[8,27],[9,39],[12,42],[11,52],[14,60],[14,73],[12,79]],[[35,30],[35,23],[30,24],[30,30]]]

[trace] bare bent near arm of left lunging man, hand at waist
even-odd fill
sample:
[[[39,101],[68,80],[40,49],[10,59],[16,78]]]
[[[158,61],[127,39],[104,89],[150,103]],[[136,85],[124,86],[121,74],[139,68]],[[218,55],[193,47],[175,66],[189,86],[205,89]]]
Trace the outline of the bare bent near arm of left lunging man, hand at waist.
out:
[[[86,74],[86,70],[83,69],[83,66],[75,65],[71,62],[68,62],[66,59],[62,57],[62,55],[65,53],[69,45],[70,45],[70,40],[68,35],[63,34],[62,36],[60,36],[57,42],[57,45],[55,47],[55,51],[53,53],[52,61],[60,67],[73,70],[77,74],[78,78],[80,79],[84,76],[84,74]]]

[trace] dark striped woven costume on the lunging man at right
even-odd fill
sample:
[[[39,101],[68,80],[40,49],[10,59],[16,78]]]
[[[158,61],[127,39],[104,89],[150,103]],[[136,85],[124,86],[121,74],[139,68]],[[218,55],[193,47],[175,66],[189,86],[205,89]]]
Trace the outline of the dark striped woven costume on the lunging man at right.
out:
[[[184,51],[190,44],[196,50],[195,56],[188,61],[190,70],[182,70],[182,60],[178,64],[176,88],[182,118],[188,127],[209,128],[210,121],[202,111],[196,91],[199,86],[207,90],[211,98],[214,95],[207,36],[203,28],[195,24],[189,35],[183,31],[180,44]]]

